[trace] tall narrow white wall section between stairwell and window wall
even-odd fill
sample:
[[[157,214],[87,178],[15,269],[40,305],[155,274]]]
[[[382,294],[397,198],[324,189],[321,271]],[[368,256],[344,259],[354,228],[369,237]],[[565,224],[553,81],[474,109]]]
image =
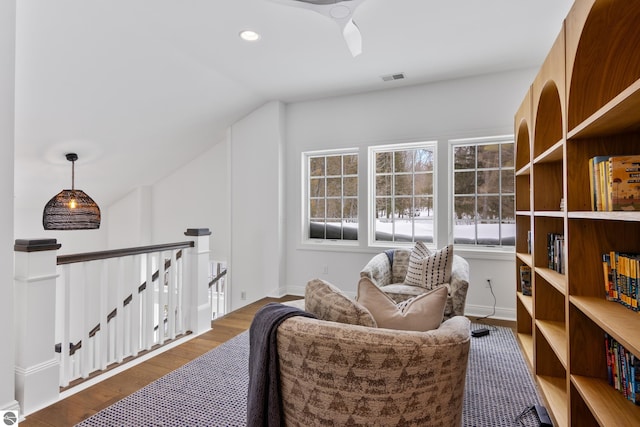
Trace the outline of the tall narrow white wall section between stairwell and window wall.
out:
[[[281,103],[270,102],[231,128],[232,309],[286,289],[283,111]]]

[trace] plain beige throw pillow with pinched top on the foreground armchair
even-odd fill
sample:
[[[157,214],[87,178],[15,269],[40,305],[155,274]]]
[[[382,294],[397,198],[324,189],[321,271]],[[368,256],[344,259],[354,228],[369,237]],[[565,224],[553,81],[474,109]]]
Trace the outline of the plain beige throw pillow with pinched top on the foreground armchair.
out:
[[[442,323],[447,288],[442,286],[419,295],[398,308],[389,296],[364,277],[358,283],[357,300],[369,310],[379,328],[429,331]]]

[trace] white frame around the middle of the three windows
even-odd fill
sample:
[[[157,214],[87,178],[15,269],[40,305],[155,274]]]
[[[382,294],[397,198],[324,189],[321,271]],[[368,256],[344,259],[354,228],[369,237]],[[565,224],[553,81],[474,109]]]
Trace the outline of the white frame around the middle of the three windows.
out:
[[[376,154],[378,152],[388,152],[388,151],[403,151],[403,150],[412,150],[416,148],[429,148],[433,151],[433,243],[428,243],[429,245],[434,245],[438,240],[437,236],[437,222],[438,222],[438,141],[436,139],[428,140],[428,141],[418,141],[418,142],[409,142],[409,143],[395,143],[395,144],[385,144],[385,145],[372,145],[368,147],[368,182],[367,182],[367,242],[369,247],[400,247],[400,246],[413,246],[413,242],[415,242],[415,235],[412,232],[411,242],[402,242],[402,241],[376,241]]]

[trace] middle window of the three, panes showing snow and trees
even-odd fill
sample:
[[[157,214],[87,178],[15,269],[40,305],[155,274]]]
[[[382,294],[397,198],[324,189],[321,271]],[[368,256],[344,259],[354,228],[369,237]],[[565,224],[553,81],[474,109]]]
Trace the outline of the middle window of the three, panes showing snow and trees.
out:
[[[370,148],[374,242],[433,242],[435,142]]]

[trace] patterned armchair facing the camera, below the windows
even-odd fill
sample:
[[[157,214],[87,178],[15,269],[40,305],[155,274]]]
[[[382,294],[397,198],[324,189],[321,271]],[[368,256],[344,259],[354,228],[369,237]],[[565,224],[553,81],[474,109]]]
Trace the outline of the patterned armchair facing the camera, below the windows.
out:
[[[360,277],[368,277],[395,302],[426,292],[425,288],[404,283],[409,266],[409,249],[392,249],[374,256],[360,272]],[[469,263],[459,255],[453,256],[451,282],[448,287],[444,320],[464,315],[464,305],[469,288]]]

